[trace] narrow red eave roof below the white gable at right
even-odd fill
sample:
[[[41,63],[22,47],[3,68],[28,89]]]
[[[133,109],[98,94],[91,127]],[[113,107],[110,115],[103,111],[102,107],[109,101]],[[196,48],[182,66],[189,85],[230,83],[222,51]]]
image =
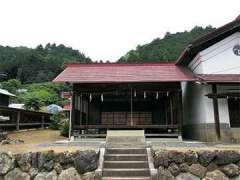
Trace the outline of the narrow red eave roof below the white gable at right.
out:
[[[208,83],[240,83],[240,74],[199,74],[198,78]]]

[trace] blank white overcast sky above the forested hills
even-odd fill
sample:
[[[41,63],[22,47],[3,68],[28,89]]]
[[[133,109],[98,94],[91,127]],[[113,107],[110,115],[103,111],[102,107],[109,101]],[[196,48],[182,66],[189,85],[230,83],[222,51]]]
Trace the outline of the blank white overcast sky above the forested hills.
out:
[[[224,25],[240,0],[0,0],[0,45],[57,43],[115,61],[167,31]]]

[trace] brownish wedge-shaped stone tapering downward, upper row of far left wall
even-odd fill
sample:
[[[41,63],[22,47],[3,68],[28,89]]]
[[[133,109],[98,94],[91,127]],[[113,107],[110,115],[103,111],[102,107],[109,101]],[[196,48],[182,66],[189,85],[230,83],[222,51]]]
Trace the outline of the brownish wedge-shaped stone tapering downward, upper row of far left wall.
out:
[[[31,168],[31,154],[25,153],[25,154],[17,154],[15,156],[15,159],[17,161],[17,164],[19,168],[24,171],[28,172]]]

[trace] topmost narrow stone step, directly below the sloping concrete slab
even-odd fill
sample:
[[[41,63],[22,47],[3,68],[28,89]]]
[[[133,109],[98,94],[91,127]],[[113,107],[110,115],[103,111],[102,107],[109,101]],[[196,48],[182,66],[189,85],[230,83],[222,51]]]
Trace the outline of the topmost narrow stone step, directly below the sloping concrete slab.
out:
[[[108,148],[106,154],[146,154],[146,148]]]

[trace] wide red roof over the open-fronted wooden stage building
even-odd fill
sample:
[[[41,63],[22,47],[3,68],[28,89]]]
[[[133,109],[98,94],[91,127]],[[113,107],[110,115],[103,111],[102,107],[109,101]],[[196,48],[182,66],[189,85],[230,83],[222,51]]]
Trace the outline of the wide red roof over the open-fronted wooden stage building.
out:
[[[193,74],[174,63],[70,64],[53,82],[179,82],[193,81]]]

